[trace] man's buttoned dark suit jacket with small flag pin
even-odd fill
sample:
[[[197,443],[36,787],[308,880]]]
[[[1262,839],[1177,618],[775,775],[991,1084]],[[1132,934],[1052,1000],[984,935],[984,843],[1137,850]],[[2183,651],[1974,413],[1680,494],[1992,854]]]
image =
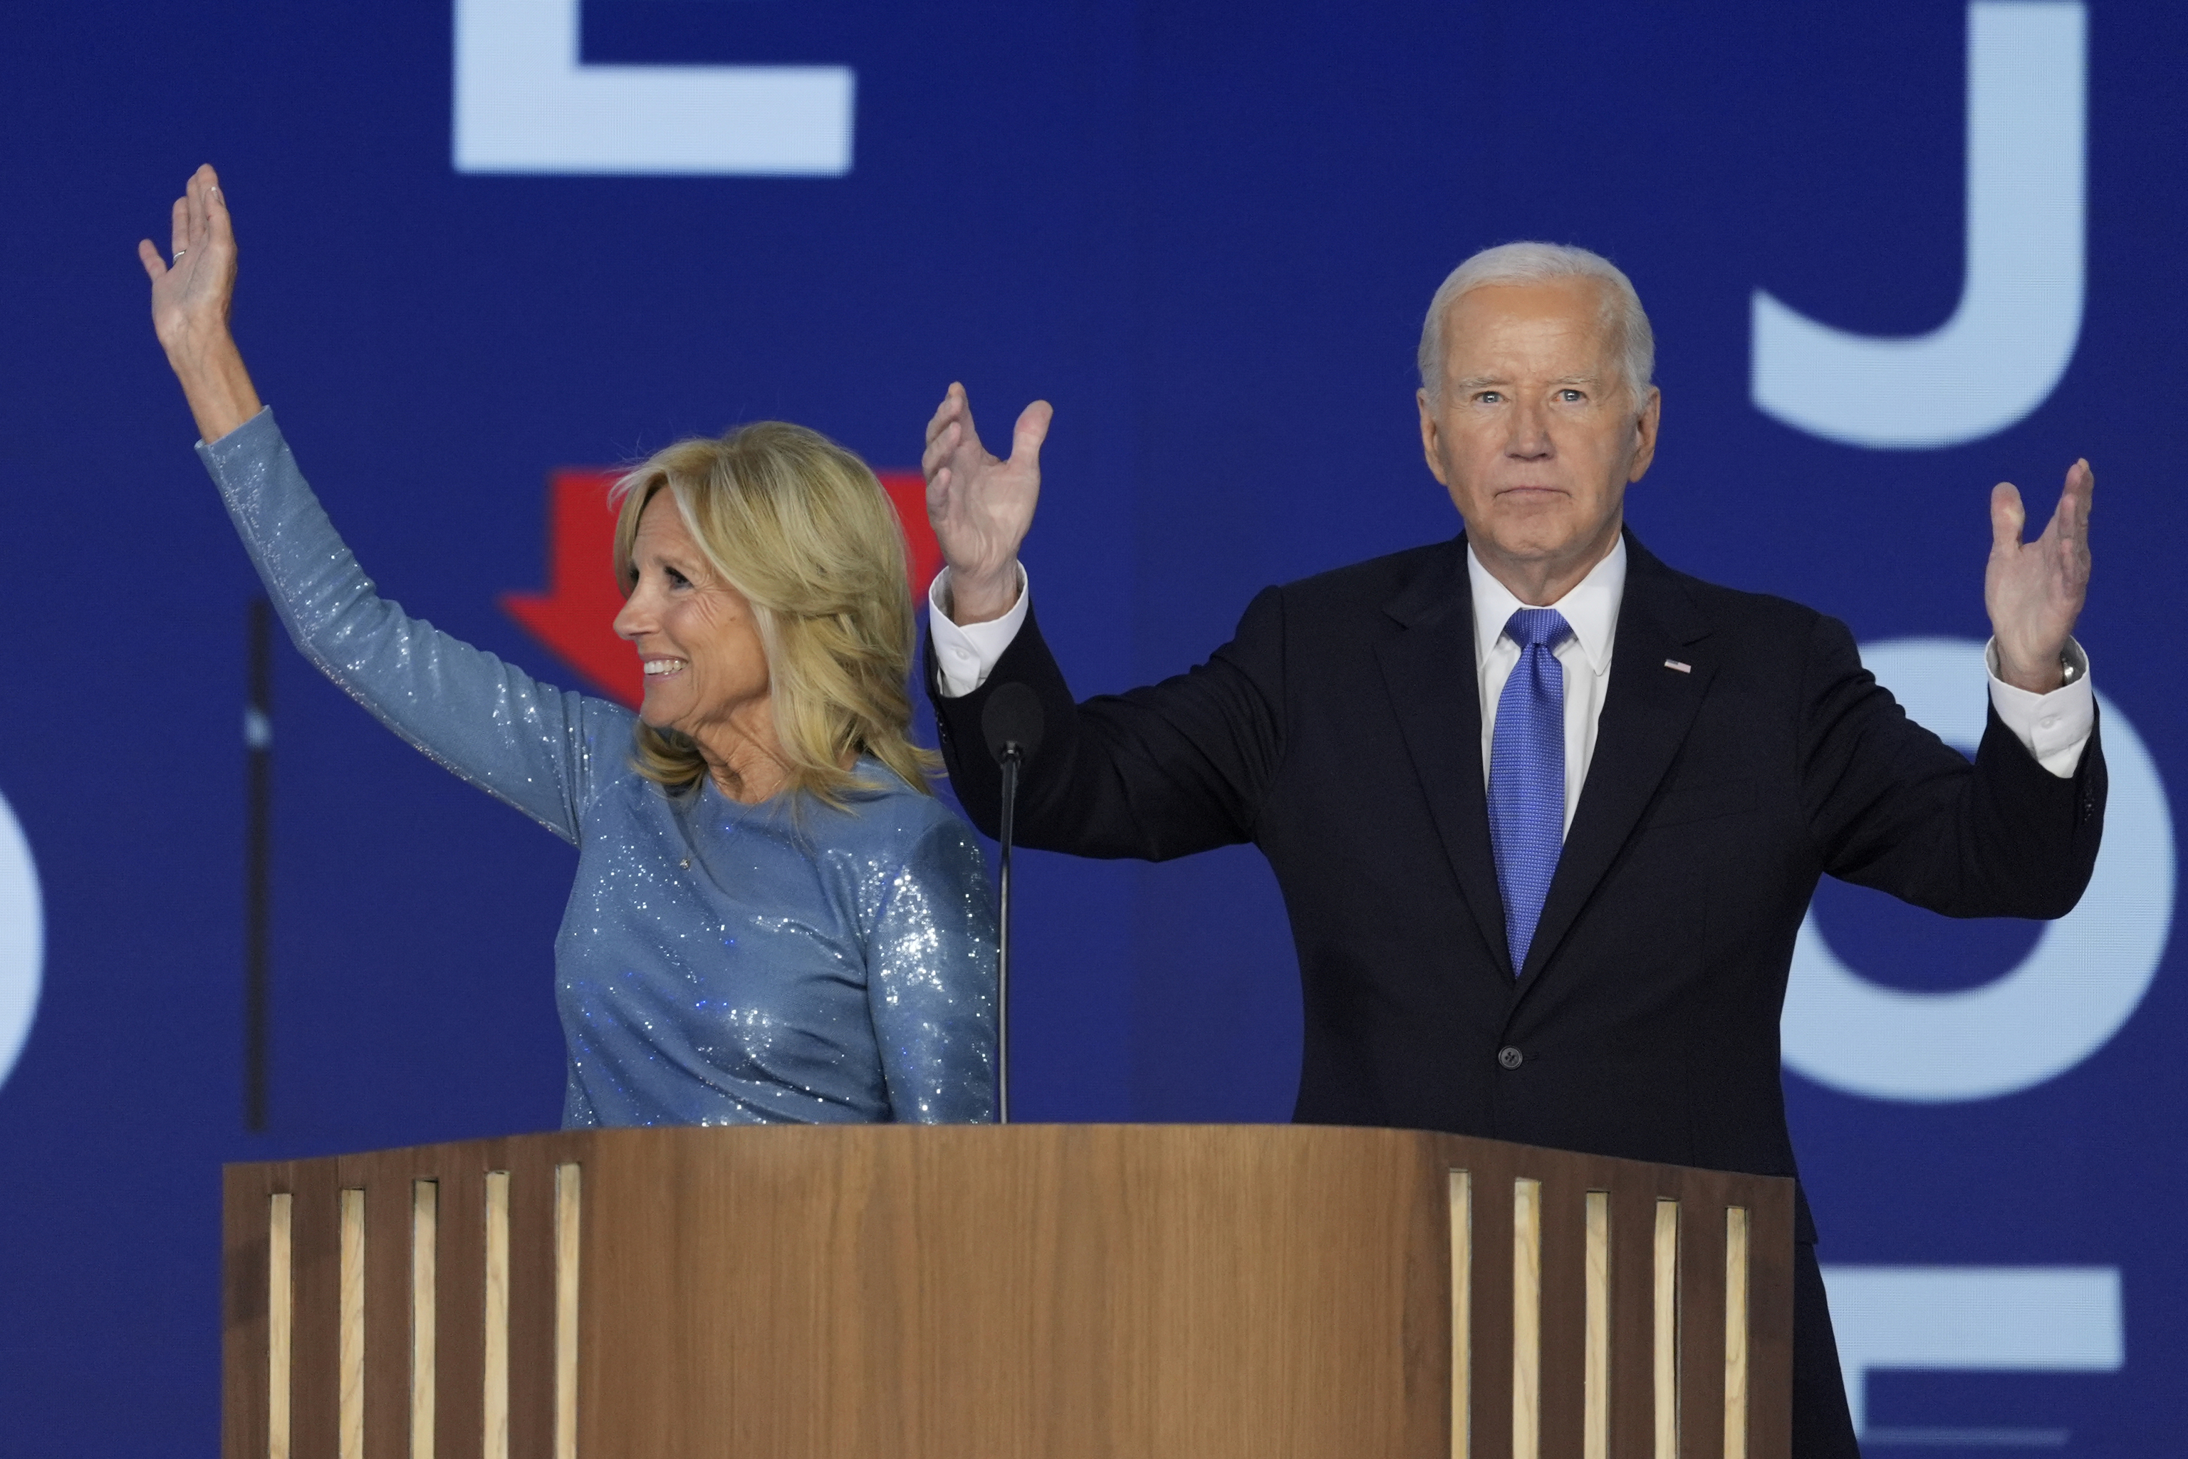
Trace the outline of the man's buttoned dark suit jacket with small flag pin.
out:
[[[1969,763],[1836,619],[1626,547],[1595,757],[1516,976],[1464,536],[1267,588],[1206,665],[1083,704],[1028,615],[982,689],[934,691],[943,752],[993,833],[980,713],[1024,682],[1046,739],[1022,844],[1262,849],[1304,980],[1302,1122],[1794,1175],[1779,1006],[1816,879],[2061,917],[2096,862],[2105,761],[2092,735],[2055,777],[1993,713]],[[1805,1201],[1799,1223],[1814,1240]]]

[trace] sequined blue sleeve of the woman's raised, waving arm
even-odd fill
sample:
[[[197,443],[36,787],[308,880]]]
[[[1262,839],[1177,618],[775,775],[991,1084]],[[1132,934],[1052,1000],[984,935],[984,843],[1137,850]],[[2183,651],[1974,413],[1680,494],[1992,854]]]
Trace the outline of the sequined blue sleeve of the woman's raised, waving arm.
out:
[[[381,597],[271,409],[197,453],[304,656],[433,761],[575,842],[595,766],[615,774],[628,755],[630,713],[543,685]]]

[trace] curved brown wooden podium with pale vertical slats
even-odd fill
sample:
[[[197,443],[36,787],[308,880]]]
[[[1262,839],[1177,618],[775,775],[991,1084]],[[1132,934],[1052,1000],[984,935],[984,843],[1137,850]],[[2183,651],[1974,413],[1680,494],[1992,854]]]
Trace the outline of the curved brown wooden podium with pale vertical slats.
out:
[[[225,1459],[1785,1459],[1792,1181],[1317,1127],[230,1166]]]

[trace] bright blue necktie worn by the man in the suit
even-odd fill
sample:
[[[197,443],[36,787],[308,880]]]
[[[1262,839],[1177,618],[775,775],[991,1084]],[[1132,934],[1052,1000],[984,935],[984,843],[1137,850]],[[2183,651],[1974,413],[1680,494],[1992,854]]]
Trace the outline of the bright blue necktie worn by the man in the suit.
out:
[[[1505,901],[1505,945],[1518,976],[1564,849],[1564,665],[1551,650],[1573,637],[1573,628],[1556,608],[1521,608],[1505,623],[1505,637],[1518,643],[1518,663],[1497,698],[1490,844]]]

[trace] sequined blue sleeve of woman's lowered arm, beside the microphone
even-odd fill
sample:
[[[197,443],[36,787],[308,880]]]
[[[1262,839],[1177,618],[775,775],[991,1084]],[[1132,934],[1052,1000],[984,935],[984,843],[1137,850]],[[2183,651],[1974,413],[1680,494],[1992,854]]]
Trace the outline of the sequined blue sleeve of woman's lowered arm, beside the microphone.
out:
[[[904,1124],[996,1118],[996,901],[971,829],[941,807],[901,864],[875,864],[866,1002]]]

